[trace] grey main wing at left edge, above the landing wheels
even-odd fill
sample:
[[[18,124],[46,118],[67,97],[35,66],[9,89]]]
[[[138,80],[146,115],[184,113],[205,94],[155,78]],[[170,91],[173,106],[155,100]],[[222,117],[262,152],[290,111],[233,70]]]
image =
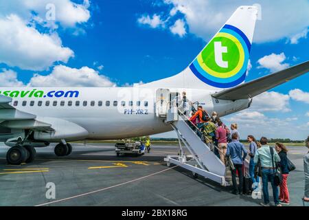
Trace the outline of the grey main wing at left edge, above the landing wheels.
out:
[[[36,120],[36,115],[19,111],[10,105],[12,98],[0,95],[0,126],[9,129],[53,131],[52,124]]]

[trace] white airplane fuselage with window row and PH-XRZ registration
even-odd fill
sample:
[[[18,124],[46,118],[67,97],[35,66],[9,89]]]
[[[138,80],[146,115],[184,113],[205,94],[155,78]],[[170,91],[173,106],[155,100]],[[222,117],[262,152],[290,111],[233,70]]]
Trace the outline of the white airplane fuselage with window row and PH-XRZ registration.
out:
[[[71,140],[84,138],[106,140],[172,131],[170,124],[165,124],[162,118],[156,116],[156,91],[157,88],[143,87],[25,87],[2,88],[1,94],[12,97],[11,105],[14,108],[36,115],[37,120],[56,126],[53,120],[54,123],[62,123],[57,121],[61,119],[78,124],[88,131],[87,137],[76,137]],[[181,94],[183,89],[170,89],[170,91]],[[249,107],[249,100],[234,102],[215,100],[210,95],[214,91],[207,89],[185,89],[185,91],[188,100],[198,102],[209,113],[216,111],[220,116]],[[165,98],[168,104],[168,98]],[[49,102],[49,105],[46,102]]]

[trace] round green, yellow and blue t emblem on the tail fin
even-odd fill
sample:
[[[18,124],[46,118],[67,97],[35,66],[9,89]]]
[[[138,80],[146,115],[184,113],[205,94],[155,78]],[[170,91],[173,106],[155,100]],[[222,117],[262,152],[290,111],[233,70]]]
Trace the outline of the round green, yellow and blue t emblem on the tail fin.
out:
[[[192,72],[208,85],[227,88],[244,81],[251,43],[232,25],[225,25],[190,65]]]

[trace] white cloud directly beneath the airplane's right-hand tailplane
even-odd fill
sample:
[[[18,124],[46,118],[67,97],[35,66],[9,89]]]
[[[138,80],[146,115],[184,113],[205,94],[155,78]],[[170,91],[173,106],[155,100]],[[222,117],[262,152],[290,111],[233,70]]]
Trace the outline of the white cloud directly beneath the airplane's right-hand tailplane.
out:
[[[255,111],[290,111],[290,97],[276,91],[266,91],[253,98],[251,110]]]

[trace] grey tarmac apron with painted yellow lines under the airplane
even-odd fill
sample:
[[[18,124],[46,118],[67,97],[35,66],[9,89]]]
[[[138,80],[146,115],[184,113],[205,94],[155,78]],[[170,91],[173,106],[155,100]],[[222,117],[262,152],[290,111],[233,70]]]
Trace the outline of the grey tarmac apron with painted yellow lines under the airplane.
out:
[[[9,148],[0,144],[0,206],[259,206],[262,201],[233,195],[231,186],[194,179],[183,168],[168,168],[163,158],[177,154],[177,146],[153,145],[139,157],[117,157],[114,144],[72,146],[73,153],[66,157],[54,155],[54,144],[36,148],[34,162],[12,166],[5,160]],[[288,148],[297,166],[288,178],[290,206],[303,206],[303,157],[308,149]]]

